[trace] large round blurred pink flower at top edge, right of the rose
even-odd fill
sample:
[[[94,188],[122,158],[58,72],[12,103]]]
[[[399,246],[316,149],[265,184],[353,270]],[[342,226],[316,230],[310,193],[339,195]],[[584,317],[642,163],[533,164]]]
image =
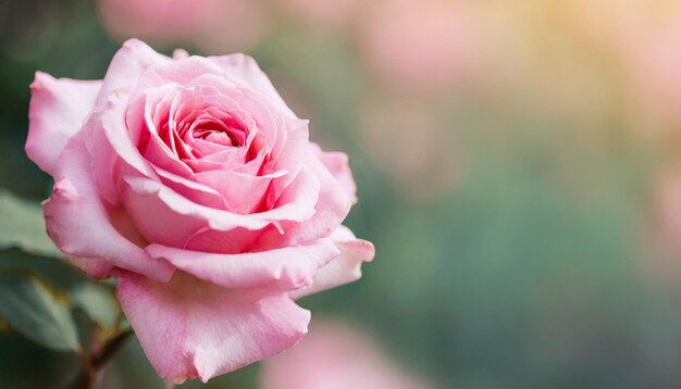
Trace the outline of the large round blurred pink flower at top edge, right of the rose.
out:
[[[465,0],[383,0],[367,15],[361,48],[386,84],[443,90],[480,64],[485,38],[478,16]]]

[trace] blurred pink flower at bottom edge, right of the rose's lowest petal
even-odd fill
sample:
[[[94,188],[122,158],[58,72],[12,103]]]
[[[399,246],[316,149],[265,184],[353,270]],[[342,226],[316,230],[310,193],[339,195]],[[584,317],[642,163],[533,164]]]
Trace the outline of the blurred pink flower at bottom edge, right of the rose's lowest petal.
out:
[[[298,347],[264,361],[261,389],[425,389],[388,361],[367,336],[332,321],[315,321]]]

